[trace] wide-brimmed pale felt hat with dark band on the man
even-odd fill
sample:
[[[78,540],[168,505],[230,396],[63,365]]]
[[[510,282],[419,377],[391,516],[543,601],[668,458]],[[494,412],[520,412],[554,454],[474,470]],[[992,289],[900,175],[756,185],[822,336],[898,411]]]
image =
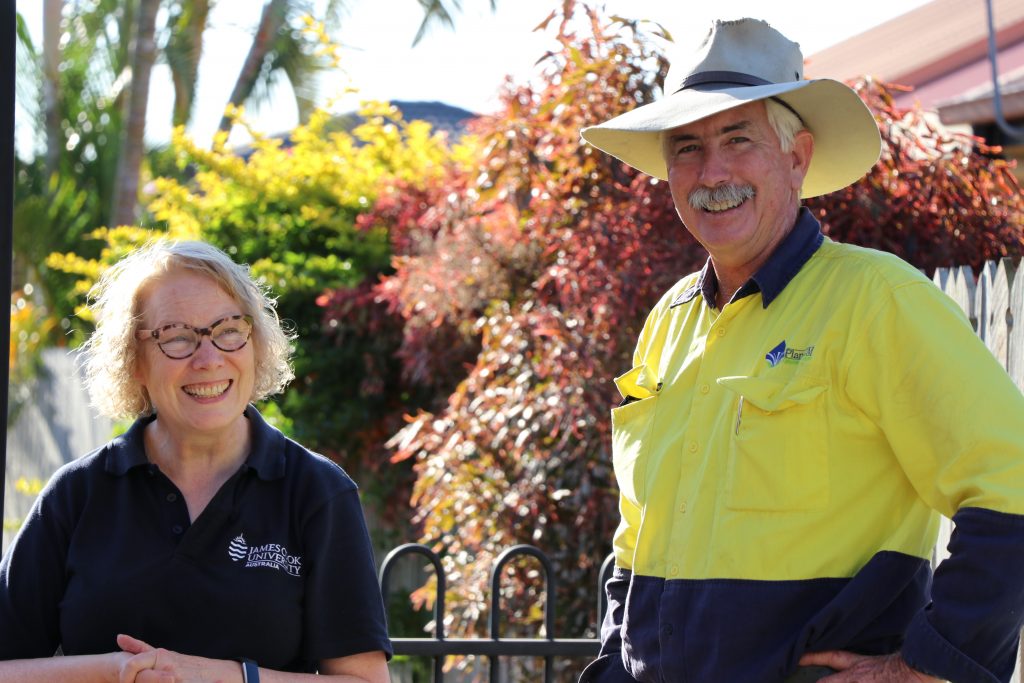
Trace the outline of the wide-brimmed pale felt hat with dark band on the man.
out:
[[[874,117],[857,93],[833,79],[804,80],[800,46],[767,23],[717,20],[695,49],[673,59],[665,95],[596,126],[583,138],[633,168],[668,178],[662,133],[748,102],[772,98],[814,136],[801,197],[859,180],[879,159]]]

